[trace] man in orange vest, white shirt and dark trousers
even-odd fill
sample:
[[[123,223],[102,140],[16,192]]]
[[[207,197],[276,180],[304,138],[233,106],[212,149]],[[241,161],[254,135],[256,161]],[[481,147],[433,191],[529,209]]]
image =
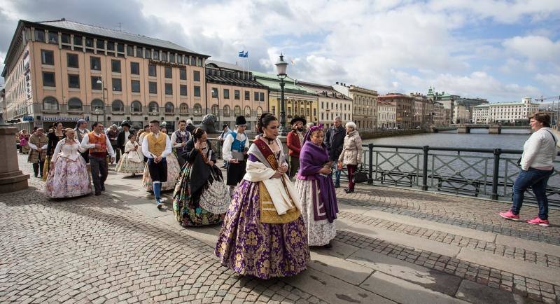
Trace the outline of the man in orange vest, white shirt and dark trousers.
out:
[[[115,162],[115,151],[111,146],[109,137],[103,132],[102,123],[93,123],[93,132],[82,139],[82,148],[90,149],[90,167],[92,170],[93,187],[95,195],[105,191],[105,181],[109,171],[107,169],[107,153],[111,156],[111,163]]]

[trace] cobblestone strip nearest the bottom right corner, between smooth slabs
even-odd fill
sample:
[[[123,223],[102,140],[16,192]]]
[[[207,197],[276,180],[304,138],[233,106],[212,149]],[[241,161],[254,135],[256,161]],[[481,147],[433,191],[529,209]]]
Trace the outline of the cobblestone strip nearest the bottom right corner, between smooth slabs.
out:
[[[429,269],[447,272],[451,275],[496,289],[517,293],[531,300],[538,300],[544,303],[557,303],[560,301],[560,286],[540,282],[536,279],[513,275],[510,272],[461,261],[457,258],[435,254],[430,251],[393,244],[351,231],[337,231],[335,240],[398,258],[402,261],[422,265]]]

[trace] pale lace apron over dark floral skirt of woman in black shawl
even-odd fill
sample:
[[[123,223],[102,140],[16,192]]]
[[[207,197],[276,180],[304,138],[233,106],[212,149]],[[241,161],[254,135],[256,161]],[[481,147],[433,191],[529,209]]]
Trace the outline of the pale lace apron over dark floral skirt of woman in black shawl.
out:
[[[228,211],[232,200],[230,187],[219,179],[218,174],[214,172],[212,167],[210,168],[210,174],[212,174],[214,181],[209,182],[208,188],[202,192],[198,204],[213,214],[225,213]]]

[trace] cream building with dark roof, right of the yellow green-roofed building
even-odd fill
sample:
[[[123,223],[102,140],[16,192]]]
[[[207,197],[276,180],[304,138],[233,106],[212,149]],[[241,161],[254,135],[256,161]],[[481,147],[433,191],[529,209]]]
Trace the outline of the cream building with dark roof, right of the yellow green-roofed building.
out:
[[[297,81],[308,90],[316,92],[318,96],[318,123],[325,127],[330,127],[337,116],[342,119],[342,123],[352,121],[352,99],[337,92],[330,85],[320,85]]]

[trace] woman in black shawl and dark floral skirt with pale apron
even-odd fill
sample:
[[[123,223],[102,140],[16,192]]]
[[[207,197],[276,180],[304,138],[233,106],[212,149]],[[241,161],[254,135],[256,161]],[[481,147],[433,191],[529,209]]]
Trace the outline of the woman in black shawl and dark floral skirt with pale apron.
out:
[[[206,132],[199,127],[183,150],[187,163],[173,193],[173,212],[181,226],[221,223],[228,211],[228,186],[211,147]]]

